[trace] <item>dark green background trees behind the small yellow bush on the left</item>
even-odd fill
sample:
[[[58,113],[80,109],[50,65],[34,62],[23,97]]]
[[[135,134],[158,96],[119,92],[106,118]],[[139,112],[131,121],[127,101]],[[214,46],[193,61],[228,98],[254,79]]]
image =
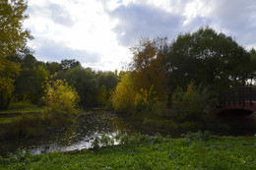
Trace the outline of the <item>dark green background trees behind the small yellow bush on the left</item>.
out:
[[[93,71],[83,68],[79,61],[62,60],[57,62],[37,61],[30,50],[22,56],[10,58],[19,66],[19,74],[14,77],[13,91],[5,91],[11,95],[3,100],[2,109],[7,109],[12,102],[31,102],[38,106],[46,104],[45,85],[51,81],[61,80],[74,86],[79,95],[79,105],[83,108],[104,104],[109,91],[118,83],[117,73]],[[10,89],[11,90],[11,89]]]

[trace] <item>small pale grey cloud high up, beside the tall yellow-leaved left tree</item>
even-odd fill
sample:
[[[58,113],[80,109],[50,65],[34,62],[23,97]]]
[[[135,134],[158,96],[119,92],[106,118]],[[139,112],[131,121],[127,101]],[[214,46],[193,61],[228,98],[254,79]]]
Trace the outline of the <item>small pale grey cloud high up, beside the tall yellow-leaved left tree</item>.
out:
[[[30,15],[48,18],[52,20],[53,23],[65,27],[72,27],[75,24],[75,20],[68,10],[59,4],[50,3],[45,6],[29,6],[28,12]]]

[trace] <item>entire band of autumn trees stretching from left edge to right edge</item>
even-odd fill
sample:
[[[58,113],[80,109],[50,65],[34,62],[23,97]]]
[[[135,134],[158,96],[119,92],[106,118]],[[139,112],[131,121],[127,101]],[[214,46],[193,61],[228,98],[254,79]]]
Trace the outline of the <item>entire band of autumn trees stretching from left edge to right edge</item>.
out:
[[[127,72],[95,72],[76,60],[36,61],[30,49],[24,0],[5,1],[0,17],[0,110],[11,102],[44,106],[46,115],[69,115],[81,107],[107,105],[120,113],[178,122],[208,119],[214,95],[252,85],[256,51],[246,50],[213,28],[167,37],[143,37],[131,48]],[[64,116],[65,117],[65,116]]]

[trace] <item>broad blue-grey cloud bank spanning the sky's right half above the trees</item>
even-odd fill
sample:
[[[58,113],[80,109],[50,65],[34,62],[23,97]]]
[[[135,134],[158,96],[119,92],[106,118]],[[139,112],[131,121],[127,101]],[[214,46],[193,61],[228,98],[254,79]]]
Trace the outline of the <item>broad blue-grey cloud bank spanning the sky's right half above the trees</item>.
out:
[[[186,18],[181,13],[185,5],[192,1],[171,2],[176,11],[179,11],[179,14],[175,13],[176,15],[165,12],[160,7],[143,3],[121,5],[108,13],[111,18],[119,20],[113,30],[117,33],[120,43],[125,46],[136,44],[138,38],[143,35],[152,37],[167,35],[173,39],[178,33],[195,31],[202,26],[221,28],[218,31],[227,31],[224,33],[233,36],[241,45],[255,45],[255,0],[201,1],[202,10],[207,13],[200,14],[187,25],[183,25]]]

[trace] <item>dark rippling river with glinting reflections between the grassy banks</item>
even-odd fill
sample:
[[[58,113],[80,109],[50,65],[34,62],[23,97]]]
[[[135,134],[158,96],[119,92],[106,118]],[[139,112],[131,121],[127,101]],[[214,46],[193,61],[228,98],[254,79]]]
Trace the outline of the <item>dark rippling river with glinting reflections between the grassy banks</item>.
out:
[[[92,109],[79,115],[75,123],[61,131],[21,141],[0,141],[0,155],[6,156],[8,152],[16,149],[28,149],[32,154],[48,151],[69,151],[89,148],[96,136],[105,134],[114,136],[118,132],[129,135],[141,132],[144,135],[170,135],[172,138],[180,137],[181,132],[168,132],[164,129],[146,128],[138,120],[117,115],[113,112]],[[255,133],[255,132],[254,132]],[[252,134],[253,135],[253,134]]]

